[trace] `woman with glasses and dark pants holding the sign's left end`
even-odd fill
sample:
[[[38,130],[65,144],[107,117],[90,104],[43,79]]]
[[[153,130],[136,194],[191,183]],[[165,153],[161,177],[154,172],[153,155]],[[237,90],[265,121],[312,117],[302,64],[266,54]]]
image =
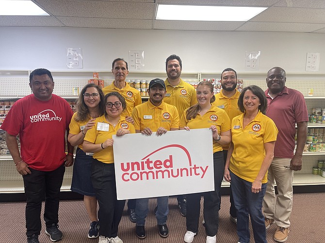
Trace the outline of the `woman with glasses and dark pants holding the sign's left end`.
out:
[[[125,200],[116,198],[112,136],[135,133],[135,129],[132,123],[121,116],[126,108],[126,101],[121,94],[108,93],[104,100],[105,113],[94,121],[94,127],[86,133],[82,146],[85,152],[94,153],[91,179],[99,204],[98,243],[123,243],[117,232]]]

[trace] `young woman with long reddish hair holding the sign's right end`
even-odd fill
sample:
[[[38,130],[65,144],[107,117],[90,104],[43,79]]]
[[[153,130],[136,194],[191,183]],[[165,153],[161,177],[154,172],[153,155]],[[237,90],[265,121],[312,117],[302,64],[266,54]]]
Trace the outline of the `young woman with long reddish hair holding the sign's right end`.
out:
[[[230,120],[223,109],[212,105],[215,101],[213,85],[200,82],[196,88],[197,104],[186,109],[180,119],[179,129],[210,128],[213,142],[214,191],[186,195],[187,212],[184,242],[191,243],[198,232],[201,195],[204,196],[204,219],[207,243],[216,242],[219,226],[219,192],[224,174],[224,156],[222,147],[231,140]]]

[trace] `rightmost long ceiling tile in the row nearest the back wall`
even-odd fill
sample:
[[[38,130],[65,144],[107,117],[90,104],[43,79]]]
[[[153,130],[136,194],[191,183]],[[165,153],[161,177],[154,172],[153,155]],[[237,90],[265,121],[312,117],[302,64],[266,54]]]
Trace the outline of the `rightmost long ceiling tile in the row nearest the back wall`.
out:
[[[272,23],[272,22],[247,22],[237,30],[240,31],[286,31],[286,32],[311,32],[324,28],[325,24],[308,23]]]

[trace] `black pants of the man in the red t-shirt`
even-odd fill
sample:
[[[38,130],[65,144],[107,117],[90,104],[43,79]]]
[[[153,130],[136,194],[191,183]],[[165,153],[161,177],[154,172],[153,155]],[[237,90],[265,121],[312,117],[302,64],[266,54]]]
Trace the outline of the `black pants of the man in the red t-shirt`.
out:
[[[23,175],[26,200],[26,235],[39,235],[41,232],[42,200],[45,199],[44,220],[46,226],[59,222],[59,195],[65,167],[53,171],[40,171],[29,168],[32,174]]]

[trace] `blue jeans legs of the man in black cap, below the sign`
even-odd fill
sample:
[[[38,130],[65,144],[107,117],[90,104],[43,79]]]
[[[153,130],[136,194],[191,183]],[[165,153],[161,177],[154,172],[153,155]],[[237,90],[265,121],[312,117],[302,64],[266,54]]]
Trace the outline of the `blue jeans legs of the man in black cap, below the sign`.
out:
[[[136,199],[135,215],[136,225],[144,226],[146,223],[146,216],[148,215],[148,201],[149,198]],[[158,225],[165,225],[167,222],[168,210],[168,196],[157,197],[158,211],[156,213],[156,219]]]

